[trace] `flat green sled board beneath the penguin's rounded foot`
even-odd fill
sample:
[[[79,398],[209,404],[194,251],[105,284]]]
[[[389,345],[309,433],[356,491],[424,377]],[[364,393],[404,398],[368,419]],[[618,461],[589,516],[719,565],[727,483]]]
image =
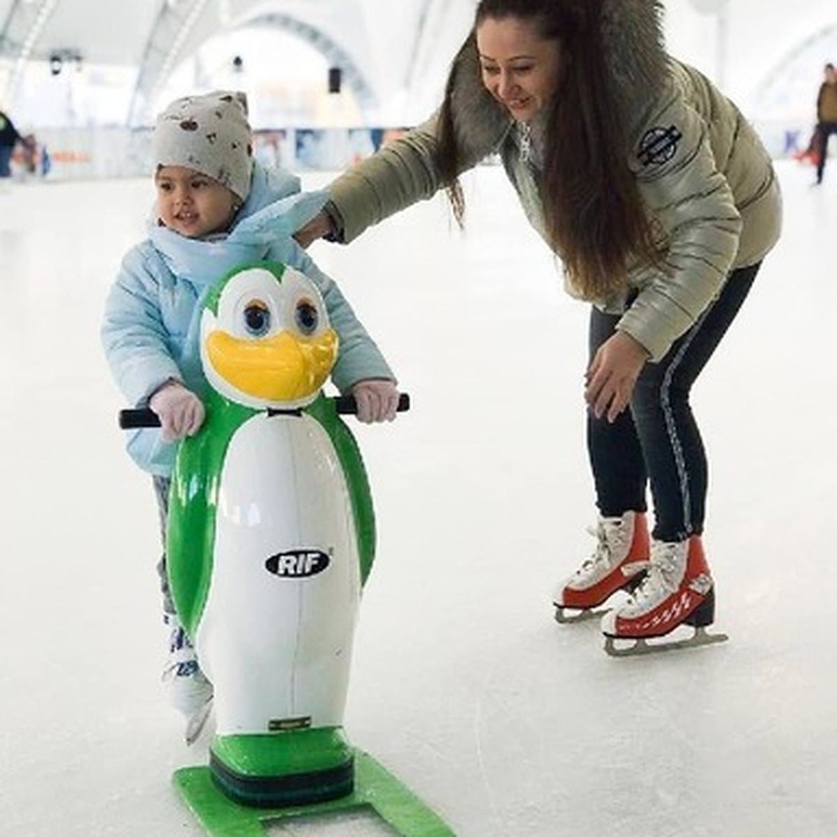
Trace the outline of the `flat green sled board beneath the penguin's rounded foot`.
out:
[[[311,731],[316,732],[316,731]],[[372,756],[352,749],[352,790],[314,804],[275,808],[239,804],[218,789],[212,768],[181,768],[173,782],[209,837],[265,837],[283,819],[334,816],[372,809],[401,837],[455,837],[454,831]]]

